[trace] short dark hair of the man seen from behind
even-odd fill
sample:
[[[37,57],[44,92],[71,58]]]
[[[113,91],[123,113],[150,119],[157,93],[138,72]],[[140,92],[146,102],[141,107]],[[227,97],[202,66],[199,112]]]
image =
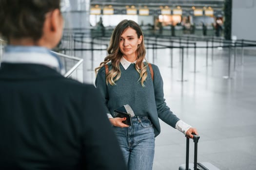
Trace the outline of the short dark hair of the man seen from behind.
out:
[[[46,14],[59,8],[60,0],[0,0],[0,35],[37,41]]]

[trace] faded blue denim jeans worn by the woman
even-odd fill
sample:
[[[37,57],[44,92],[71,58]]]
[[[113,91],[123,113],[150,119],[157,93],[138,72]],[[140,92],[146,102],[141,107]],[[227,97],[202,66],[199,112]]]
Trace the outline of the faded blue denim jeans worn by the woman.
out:
[[[114,127],[129,170],[152,170],[155,134],[147,117],[135,116],[128,128]]]

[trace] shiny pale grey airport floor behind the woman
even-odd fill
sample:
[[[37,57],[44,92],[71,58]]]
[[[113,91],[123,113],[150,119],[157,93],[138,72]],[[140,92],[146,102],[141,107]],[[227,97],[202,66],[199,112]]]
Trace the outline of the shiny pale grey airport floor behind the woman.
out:
[[[203,43],[201,43],[203,44]],[[160,68],[164,93],[171,110],[182,120],[196,127],[199,162],[210,162],[220,170],[256,170],[256,56],[234,55],[228,79],[228,50],[197,50],[197,72],[194,72],[194,51],[184,52],[184,82],[181,79],[179,50],[174,49],[173,68],[170,68],[170,50],[157,51],[155,64]],[[103,61],[105,51],[95,51],[94,67]],[[78,54],[79,55],[79,54]],[[89,53],[83,54],[85,81],[93,83]],[[152,63],[152,50],[148,50]],[[153,170],[178,170],[185,163],[186,140],[183,134],[161,121],[161,134],[156,138]],[[190,162],[194,145],[190,144]]]

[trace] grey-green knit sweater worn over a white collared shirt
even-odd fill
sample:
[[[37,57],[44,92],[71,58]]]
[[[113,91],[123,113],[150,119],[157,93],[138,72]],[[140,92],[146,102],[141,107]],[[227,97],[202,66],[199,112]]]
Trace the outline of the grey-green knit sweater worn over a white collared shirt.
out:
[[[126,70],[120,64],[121,77],[116,81],[116,85],[106,85],[105,67],[98,71],[95,85],[105,100],[108,113],[114,115],[114,109],[122,105],[129,104],[136,116],[148,116],[154,126],[155,136],[160,133],[158,118],[175,128],[179,120],[176,115],[166,105],[163,94],[163,81],[159,68],[152,64],[154,70],[154,83],[148,69],[148,76],[142,87],[139,74],[135,69],[135,64],[131,64]],[[109,64],[109,70],[111,64]]]

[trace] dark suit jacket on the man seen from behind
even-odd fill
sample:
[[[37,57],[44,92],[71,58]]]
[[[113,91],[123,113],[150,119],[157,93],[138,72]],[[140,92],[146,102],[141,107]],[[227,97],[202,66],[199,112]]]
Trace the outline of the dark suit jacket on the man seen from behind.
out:
[[[125,170],[93,85],[37,64],[0,67],[0,170]]]

